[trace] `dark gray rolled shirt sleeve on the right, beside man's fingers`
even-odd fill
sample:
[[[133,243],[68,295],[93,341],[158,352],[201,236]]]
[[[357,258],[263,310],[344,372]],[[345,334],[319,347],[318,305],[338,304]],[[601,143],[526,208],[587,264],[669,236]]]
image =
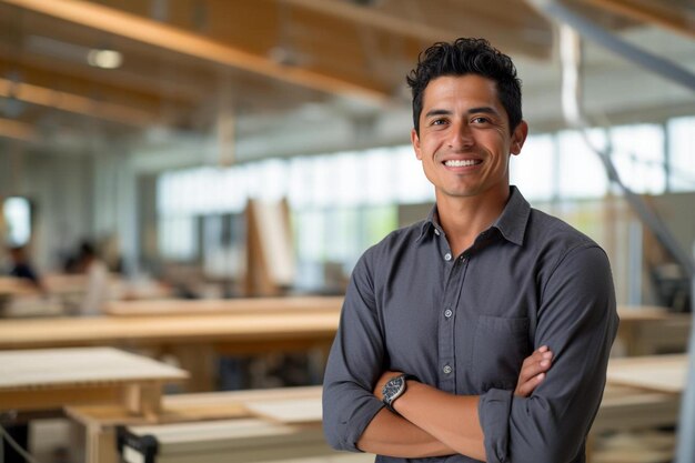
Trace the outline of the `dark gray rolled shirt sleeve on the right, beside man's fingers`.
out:
[[[567,252],[542,289],[534,348],[553,351],[545,380],[528,397],[495,389],[481,396],[488,462],[583,461],[617,324],[604,251],[594,244]]]

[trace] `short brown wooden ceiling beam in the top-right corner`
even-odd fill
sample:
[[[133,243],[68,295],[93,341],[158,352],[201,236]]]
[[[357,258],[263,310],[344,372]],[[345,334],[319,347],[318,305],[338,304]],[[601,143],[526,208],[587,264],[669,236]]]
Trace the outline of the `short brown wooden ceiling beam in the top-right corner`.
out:
[[[695,39],[692,14],[674,3],[654,0],[584,0],[605,11],[648,24],[657,24],[688,39]]]

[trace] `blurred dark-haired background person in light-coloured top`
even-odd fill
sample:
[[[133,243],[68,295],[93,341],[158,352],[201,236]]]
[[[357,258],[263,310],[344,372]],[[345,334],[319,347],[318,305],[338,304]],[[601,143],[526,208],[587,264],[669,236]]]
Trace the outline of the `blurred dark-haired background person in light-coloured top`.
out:
[[[109,269],[99,258],[94,245],[88,241],[80,244],[78,265],[87,275],[81,315],[98,315],[109,295]]]

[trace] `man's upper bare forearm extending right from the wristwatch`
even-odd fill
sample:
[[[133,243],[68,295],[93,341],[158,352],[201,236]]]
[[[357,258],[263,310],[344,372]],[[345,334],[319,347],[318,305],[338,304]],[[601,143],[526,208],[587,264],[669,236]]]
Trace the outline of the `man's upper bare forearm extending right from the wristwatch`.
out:
[[[453,453],[485,461],[477,403],[477,395],[453,395],[411,381],[394,409],[442,445],[453,449]]]

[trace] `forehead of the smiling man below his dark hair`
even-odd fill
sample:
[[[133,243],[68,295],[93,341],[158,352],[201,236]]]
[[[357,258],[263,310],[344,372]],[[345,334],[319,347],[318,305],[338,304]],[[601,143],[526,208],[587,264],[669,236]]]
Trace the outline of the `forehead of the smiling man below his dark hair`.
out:
[[[479,105],[484,103],[502,109],[494,80],[477,74],[442,76],[432,79],[423,93],[422,105]]]

